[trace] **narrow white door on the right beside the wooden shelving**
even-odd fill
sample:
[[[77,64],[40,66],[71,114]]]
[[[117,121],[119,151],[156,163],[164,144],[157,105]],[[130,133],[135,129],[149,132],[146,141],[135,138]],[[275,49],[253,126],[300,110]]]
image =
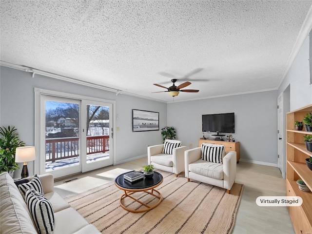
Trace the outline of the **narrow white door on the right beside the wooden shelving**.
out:
[[[285,173],[284,161],[285,156],[283,152],[283,93],[277,98],[277,167],[280,169],[282,175]]]

